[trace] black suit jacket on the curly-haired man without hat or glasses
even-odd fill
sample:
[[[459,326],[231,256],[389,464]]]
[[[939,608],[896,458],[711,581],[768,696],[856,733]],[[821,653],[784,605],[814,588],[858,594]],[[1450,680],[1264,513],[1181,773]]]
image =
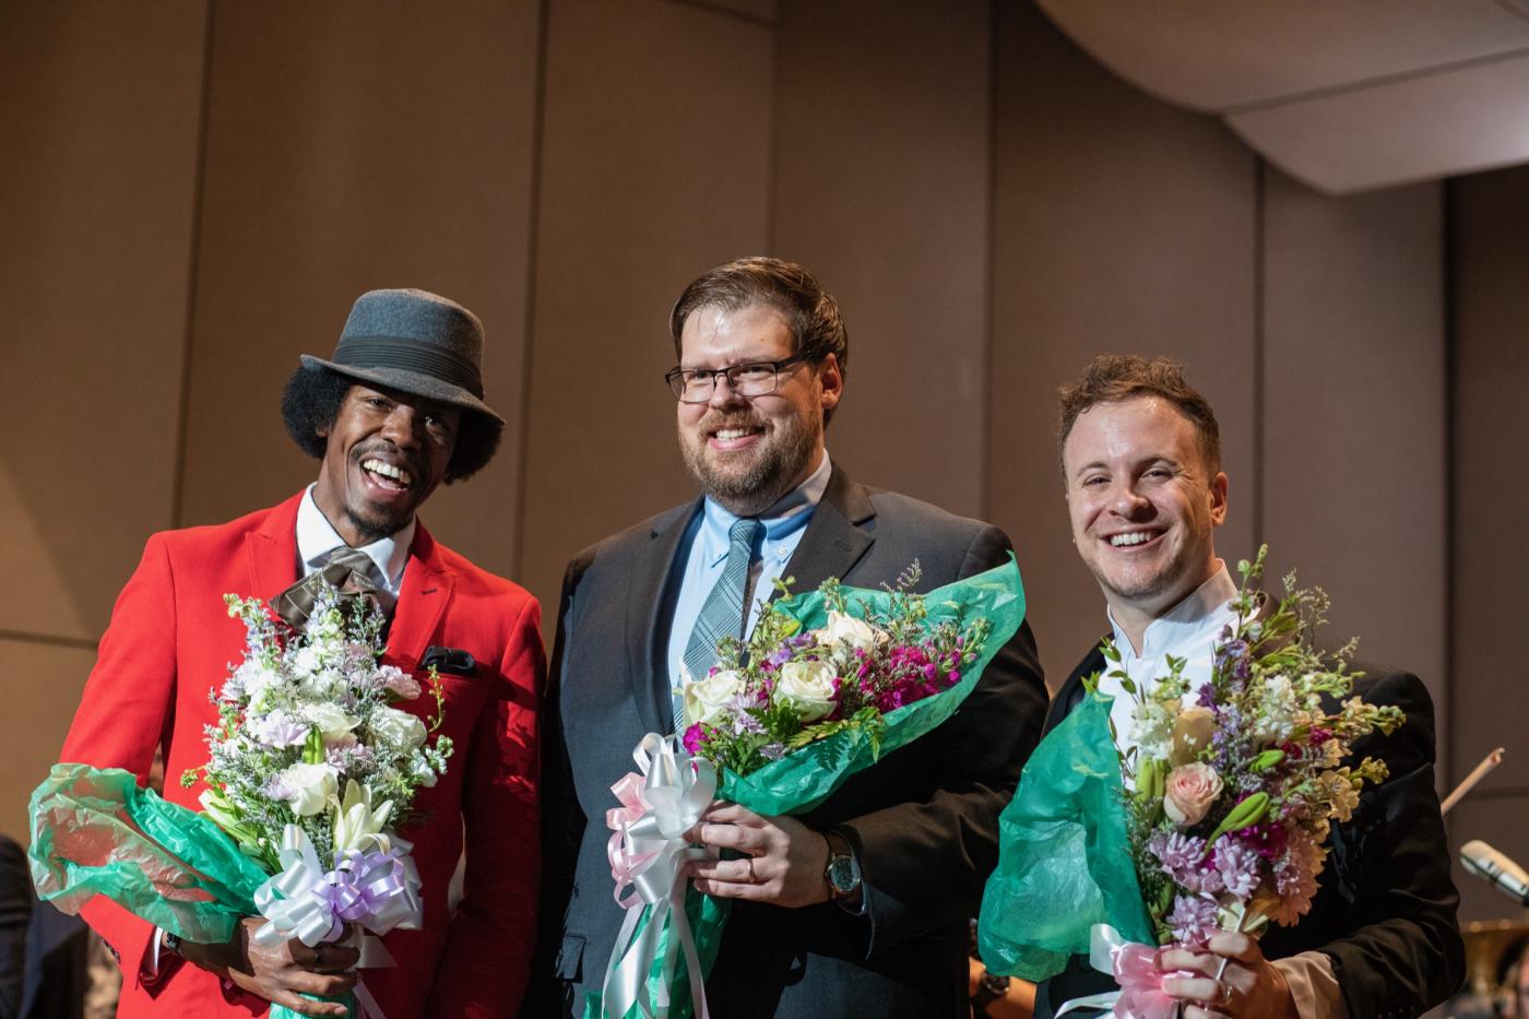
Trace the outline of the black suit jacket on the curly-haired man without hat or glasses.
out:
[[[1067,676],[1046,713],[1050,731],[1083,702],[1083,679],[1104,669],[1098,647]],[[1353,819],[1335,825],[1332,852],[1318,878],[1312,910],[1295,927],[1272,927],[1261,947],[1278,959],[1300,952],[1332,958],[1352,1019],[1417,1016],[1453,995],[1465,979],[1465,944],[1456,921],[1460,895],[1449,878],[1449,848],[1434,791],[1433,701],[1417,676],[1356,666],[1355,693],[1394,704],[1407,724],[1353,744],[1355,760],[1384,760],[1390,777],[1365,786]],[[1073,962],[1041,984],[1035,1014],[1113,987]]]

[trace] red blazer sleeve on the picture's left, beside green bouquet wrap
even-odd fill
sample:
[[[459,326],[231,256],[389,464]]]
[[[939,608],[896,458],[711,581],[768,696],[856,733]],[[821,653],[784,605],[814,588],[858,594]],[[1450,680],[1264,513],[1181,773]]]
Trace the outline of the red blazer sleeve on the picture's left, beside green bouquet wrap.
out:
[[[154,751],[173,724],[174,690],[174,571],[167,542],[156,534],[112,609],[60,760],[124,768],[147,786]],[[148,978],[144,964],[153,924],[101,895],[86,903],[80,915],[118,958],[124,981]]]

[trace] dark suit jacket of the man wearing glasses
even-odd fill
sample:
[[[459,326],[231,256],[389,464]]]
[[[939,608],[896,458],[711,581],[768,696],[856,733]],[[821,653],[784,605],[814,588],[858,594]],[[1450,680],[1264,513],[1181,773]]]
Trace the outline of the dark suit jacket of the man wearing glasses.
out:
[[[540,972],[523,1014],[581,1014],[604,978],[622,910],[612,900],[604,812],[644,733],[673,730],[664,650],[677,565],[700,500],[624,531],[567,569],[544,718],[544,877]],[[1001,531],[838,467],[786,575],[893,581],[914,558],[924,588],[1006,562]],[[936,731],[852,777],[816,811],[855,848],[867,913],[737,903],[706,995],[713,1014],[966,1016],[966,920],[997,863],[997,819],[1046,710],[1023,626],[962,708]]]

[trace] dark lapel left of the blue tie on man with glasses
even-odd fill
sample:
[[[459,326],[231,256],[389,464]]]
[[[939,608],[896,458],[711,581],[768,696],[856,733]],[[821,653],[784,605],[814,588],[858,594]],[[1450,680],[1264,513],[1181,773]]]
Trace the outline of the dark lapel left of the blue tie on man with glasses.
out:
[[[679,546],[691,519],[700,513],[700,500],[659,517],[648,534],[648,545],[638,554],[627,600],[627,675],[631,699],[650,733],[674,731],[674,702],[668,685],[668,669],[661,652],[661,638],[668,641],[664,606],[671,598],[670,575],[679,560]],[[662,633],[661,633],[662,630]]]

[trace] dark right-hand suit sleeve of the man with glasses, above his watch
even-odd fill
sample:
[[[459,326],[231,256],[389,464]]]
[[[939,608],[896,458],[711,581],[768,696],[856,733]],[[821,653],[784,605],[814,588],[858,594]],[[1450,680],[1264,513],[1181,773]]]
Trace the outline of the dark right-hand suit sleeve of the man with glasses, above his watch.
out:
[[[985,528],[966,549],[960,575],[1008,562],[1009,548],[1001,531]],[[933,796],[836,825],[861,864],[868,955],[977,915],[983,881],[998,861],[998,814],[1044,715],[1046,684],[1024,623],[960,710],[924,737],[931,741],[927,759],[939,770]]]

